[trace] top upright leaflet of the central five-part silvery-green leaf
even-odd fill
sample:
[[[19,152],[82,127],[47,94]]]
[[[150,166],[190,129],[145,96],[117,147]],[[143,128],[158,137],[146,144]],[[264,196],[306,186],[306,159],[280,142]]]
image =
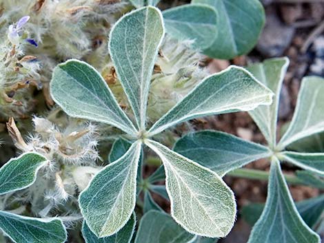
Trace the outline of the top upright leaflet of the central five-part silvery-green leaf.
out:
[[[154,62],[164,36],[160,10],[145,7],[125,14],[112,28],[109,50],[139,129],[145,129]]]

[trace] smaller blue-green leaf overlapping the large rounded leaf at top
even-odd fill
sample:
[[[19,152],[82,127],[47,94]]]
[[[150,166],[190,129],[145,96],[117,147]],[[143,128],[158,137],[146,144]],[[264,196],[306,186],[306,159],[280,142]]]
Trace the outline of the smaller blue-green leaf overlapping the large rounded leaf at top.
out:
[[[194,47],[210,47],[217,35],[217,15],[204,4],[187,4],[163,11],[165,31],[175,39],[193,40]]]

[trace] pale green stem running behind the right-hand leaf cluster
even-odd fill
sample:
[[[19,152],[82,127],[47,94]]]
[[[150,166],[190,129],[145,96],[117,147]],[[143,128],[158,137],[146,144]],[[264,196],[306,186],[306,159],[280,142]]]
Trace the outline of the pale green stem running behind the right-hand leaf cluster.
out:
[[[260,171],[258,169],[234,169],[234,171],[230,171],[227,173],[227,176],[233,176],[237,178],[247,178],[252,180],[269,180],[269,171]],[[284,175],[285,180],[288,184],[303,184],[305,183],[297,178],[296,176],[292,175]]]

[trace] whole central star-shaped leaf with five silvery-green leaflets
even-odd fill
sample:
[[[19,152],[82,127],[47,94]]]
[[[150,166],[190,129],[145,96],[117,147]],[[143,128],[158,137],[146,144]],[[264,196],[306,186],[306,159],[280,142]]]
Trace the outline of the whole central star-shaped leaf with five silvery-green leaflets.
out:
[[[224,237],[234,224],[234,195],[220,176],[156,142],[154,136],[192,118],[269,105],[272,92],[243,68],[232,66],[205,78],[148,129],[150,80],[163,36],[163,17],[154,7],[126,14],[110,33],[110,55],[134,120],[87,63],[69,60],[54,70],[51,94],[68,115],[118,127],[131,144],[123,156],[97,173],[79,196],[84,228],[97,237],[116,234],[130,220],[134,224],[136,178],[141,180],[139,167],[146,147],[163,161],[171,214],[183,229],[194,235]],[[113,150],[123,147],[120,141]]]

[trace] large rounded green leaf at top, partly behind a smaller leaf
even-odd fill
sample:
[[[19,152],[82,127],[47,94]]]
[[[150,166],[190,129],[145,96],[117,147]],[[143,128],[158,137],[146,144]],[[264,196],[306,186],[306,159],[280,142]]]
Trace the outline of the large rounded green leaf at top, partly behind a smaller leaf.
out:
[[[218,59],[232,59],[250,52],[259,39],[265,13],[259,0],[193,0],[205,3],[217,12],[218,34],[205,54]]]

